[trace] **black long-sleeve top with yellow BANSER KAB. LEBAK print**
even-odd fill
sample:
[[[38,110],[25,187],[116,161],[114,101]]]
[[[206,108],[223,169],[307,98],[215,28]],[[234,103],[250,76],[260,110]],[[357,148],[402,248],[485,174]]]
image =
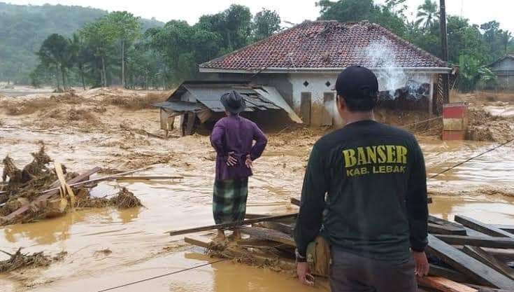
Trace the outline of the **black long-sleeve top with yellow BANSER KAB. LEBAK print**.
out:
[[[403,261],[427,246],[427,181],[415,137],[364,120],[313,147],[294,239],[301,255],[320,233],[335,248]]]

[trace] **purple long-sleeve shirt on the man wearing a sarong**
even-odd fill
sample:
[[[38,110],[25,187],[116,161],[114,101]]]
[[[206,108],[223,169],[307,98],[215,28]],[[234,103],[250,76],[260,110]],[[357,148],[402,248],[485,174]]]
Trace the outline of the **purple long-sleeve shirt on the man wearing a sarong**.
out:
[[[255,141],[255,144],[253,144]],[[264,152],[268,139],[251,120],[241,116],[227,116],[218,120],[212,134],[210,144],[216,156],[216,179],[245,179],[252,175],[252,169],[246,167],[246,155],[256,160]],[[238,160],[235,166],[227,165],[229,152],[234,152]]]

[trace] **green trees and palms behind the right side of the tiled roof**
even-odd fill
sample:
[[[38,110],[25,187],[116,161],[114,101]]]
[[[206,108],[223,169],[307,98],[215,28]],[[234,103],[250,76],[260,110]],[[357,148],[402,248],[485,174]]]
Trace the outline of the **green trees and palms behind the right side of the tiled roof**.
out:
[[[436,56],[441,56],[441,32],[436,1],[425,0],[418,7],[417,19],[406,21],[405,0],[320,0],[320,19],[341,22],[369,20],[411,41]],[[472,90],[479,83],[494,82],[487,65],[514,50],[511,32],[500,29],[496,21],[471,25],[469,20],[448,16],[448,55],[450,64],[460,65],[461,90]]]

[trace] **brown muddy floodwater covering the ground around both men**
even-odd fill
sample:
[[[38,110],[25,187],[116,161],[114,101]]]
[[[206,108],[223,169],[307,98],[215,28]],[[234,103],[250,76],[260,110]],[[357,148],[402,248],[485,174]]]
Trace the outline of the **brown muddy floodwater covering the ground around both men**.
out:
[[[328,291],[326,282],[320,281],[314,288],[301,286],[290,274],[230,260],[209,265],[218,259],[204,256],[202,249],[185,244],[183,237],[166,234],[213,223],[214,153],[208,138],[143,137],[120,130],[120,124],[156,130],[157,111],[106,108],[110,115],[97,115],[97,123],[85,123],[87,127],[64,127],[57,120],[45,126],[37,119],[41,113],[0,116],[0,158],[9,154],[22,166],[41,140],[52,158],[75,171],[152,165],[138,175],[183,179],[103,182],[92,195],[103,197],[127,187],[144,207],[78,210],[59,218],[0,228],[2,250],[15,251],[21,246],[24,252],[68,253],[50,267],[1,274],[0,291],[103,291],[163,274],[168,275],[110,291]],[[289,201],[299,197],[308,153],[319,137],[311,132],[270,134],[269,148],[255,162],[255,176],[250,179],[248,213],[297,210]],[[436,137],[420,137],[420,143],[429,176],[498,144],[445,142]],[[450,220],[463,214],[487,223],[514,224],[513,162],[514,145],[507,145],[429,179],[434,199],[431,214]],[[0,260],[6,258],[0,253]]]

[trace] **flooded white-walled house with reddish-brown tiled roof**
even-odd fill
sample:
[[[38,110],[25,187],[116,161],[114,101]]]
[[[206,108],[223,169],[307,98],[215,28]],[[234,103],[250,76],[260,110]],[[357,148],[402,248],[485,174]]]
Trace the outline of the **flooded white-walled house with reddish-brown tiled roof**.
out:
[[[369,22],[306,21],[250,46],[199,65],[204,80],[251,81],[276,88],[304,123],[334,123],[334,85],[346,67],[378,76],[380,99],[415,99],[434,111],[442,104],[446,62]],[[397,104],[397,102],[394,102]]]

